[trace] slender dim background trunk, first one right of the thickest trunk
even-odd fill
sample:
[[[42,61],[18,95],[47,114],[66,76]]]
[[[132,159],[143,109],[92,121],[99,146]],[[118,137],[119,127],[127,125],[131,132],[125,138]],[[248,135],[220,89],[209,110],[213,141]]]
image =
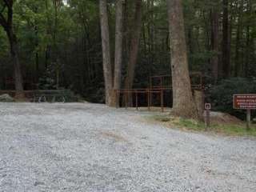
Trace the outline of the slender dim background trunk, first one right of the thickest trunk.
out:
[[[210,61],[214,83],[218,81],[218,18],[218,9],[214,8],[211,12],[211,49],[214,52],[214,56]]]

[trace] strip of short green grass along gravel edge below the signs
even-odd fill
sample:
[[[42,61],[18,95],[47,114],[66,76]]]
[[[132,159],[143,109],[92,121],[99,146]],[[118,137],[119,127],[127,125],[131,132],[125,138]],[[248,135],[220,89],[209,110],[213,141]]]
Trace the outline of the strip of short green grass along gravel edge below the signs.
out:
[[[166,126],[179,128],[182,130],[205,131],[204,122],[197,122],[192,119],[175,118],[168,115],[154,115],[150,117],[155,122],[162,122]],[[256,125],[252,124],[250,130],[246,130],[246,123],[242,124],[219,124],[212,123],[209,131],[215,134],[224,134],[228,136],[254,136],[256,137]]]

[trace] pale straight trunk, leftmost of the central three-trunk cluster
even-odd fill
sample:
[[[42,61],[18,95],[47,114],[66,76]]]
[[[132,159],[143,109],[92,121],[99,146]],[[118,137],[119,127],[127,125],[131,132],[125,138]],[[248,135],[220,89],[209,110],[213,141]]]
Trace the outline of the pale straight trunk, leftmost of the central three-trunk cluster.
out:
[[[99,12],[102,29],[102,62],[105,80],[106,105],[110,106],[112,103],[111,90],[113,88],[113,75],[110,60],[110,34],[106,0],[99,0]]]

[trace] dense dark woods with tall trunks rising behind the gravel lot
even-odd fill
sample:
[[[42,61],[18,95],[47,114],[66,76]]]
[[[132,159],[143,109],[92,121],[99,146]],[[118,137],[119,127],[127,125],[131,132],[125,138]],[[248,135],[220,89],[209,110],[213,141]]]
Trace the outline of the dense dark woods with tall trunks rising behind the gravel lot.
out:
[[[174,109],[191,116],[189,70],[209,89],[254,81],[255,11],[255,0],[0,0],[0,90],[66,88],[115,106],[113,90],[172,74]]]

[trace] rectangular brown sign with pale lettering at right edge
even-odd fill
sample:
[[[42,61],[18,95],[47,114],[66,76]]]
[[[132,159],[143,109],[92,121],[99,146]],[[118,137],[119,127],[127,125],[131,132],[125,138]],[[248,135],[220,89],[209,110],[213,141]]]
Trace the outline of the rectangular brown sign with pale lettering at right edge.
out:
[[[234,109],[256,110],[256,94],[234,94]]]

